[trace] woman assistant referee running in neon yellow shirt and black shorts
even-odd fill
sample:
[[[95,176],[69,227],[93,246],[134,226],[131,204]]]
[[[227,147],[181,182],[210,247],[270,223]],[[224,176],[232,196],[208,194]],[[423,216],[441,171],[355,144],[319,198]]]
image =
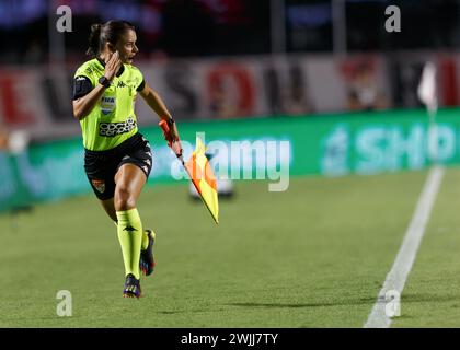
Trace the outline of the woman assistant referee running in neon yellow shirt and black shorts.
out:
[[[170,126],[172,149],[181,155],[177,128],[159,94],[133,66],[139,51],[135,27],[125,21],[91,26],[92,59],[73,81],[73,116],[80,121],[85,150],[84,170],[108,217],[117,225],[125,262],[123,296],[139,298],[140,270],[153,272],[154,232],[143,230],[137,199],[152,167],[149,142],[138,131],[134,110],[137,93]]]

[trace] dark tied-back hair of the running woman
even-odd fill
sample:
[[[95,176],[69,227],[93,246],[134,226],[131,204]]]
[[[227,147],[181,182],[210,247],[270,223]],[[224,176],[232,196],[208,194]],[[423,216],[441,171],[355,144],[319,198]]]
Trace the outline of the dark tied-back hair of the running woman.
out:
[[[105,43],[116,45],[126,30],[136,31],[135,26],[126,21],[108,21],[104,24],[91,25],[90,43],[87,55],[96,57]]]

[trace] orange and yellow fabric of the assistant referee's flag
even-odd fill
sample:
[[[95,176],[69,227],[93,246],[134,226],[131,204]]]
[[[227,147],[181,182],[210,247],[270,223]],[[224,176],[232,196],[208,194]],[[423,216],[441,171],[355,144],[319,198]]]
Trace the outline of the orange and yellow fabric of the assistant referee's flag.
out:
[[[205,144],[202,139],[197,137],[196,149],[184,166],[195,185],[196,190],[212,215],[212,219],[216,223],[219,223],[217,180],[205,152]]]

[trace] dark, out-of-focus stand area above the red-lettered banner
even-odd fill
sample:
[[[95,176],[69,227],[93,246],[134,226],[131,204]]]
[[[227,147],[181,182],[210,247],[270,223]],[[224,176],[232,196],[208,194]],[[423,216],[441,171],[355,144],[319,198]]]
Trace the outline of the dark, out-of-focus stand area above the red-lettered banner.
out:
[[[275,0],[276,1],[276,0]],[[273,21],[285,28],[286,52],[334,49],[336,1],[279,0],[284,13],[272,14],[269,0],[0,0],[1,63],[36,63],[48,57],[48,24],[60,4],[72,9],[66,33],[66,58],[85,51],[92,23],[124,19],[137,27],[141,56],[212,57],[267,54]],[[340,1],[340,0],[338,0]],[[343,0],[346,49],[457,49],[460,0]],[[402,32],[384,31],[384,9],[400,7]],[[49,21],[51,20],[51,22]]]

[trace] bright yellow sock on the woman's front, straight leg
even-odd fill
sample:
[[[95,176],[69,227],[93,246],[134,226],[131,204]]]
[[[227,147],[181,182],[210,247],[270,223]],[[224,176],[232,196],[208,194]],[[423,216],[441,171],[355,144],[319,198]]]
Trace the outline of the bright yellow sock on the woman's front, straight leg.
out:
[[[143,233],[139,212],[136,208],[117,211],[116,217],[118,219],[117,233],[125,262],[125,272],[126,275],[133,273],[135,278],[139,279],[140,246]]]

